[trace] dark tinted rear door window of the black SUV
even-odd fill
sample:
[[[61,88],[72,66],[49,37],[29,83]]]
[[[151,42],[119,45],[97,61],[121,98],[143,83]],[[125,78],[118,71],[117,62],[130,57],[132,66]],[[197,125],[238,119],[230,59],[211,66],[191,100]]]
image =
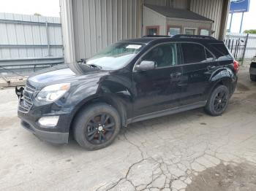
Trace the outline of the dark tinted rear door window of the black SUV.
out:
[[[200,44],[181,43],[184,63],[200,63],[206,61],[205,48]]]

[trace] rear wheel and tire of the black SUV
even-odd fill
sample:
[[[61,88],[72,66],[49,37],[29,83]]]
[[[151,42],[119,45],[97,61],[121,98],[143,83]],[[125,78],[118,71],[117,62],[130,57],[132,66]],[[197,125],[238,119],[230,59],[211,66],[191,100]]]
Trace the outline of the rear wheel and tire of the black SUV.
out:
[[[219,116],[227,109],[230,92],[225,85],[217,86],[208,98],[205,110],[212,116]]]

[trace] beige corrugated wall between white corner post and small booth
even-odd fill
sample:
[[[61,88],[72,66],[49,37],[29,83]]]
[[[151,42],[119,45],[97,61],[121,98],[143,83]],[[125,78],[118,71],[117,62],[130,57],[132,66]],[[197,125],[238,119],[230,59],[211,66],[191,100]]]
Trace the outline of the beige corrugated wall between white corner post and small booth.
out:
[[[140,36],[140,0],[76,0],[72,11],[77,61],[120,39]]]

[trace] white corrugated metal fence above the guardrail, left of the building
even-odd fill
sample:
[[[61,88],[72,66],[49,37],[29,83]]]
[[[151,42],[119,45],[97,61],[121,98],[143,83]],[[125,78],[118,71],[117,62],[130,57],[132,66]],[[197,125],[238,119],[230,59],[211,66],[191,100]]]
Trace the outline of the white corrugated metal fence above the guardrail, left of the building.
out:
[[[46,24],[48,22],[48,32]],[[59,17],[0,13],[0,59],[63,55]]]

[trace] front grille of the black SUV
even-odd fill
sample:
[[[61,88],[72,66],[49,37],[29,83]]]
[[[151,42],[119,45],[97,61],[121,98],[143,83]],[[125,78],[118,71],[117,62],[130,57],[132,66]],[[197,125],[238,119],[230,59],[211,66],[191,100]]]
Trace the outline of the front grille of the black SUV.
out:
[[[18,111],[23,113],[28,113],[31,107],[33,106],[33,101],[31,97],[33,93],[37,90],[36,87],[26,83],[26,87],[23,91],[23,95],[20,96]]]

